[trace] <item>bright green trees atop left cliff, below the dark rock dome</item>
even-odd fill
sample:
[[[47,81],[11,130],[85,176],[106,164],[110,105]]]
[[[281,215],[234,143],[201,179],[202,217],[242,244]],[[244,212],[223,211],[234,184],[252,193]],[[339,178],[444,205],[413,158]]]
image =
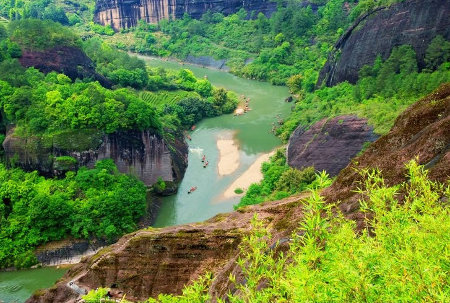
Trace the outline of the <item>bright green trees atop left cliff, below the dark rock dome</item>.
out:
[[[108,90],[98,82],[72,83],[63,74],[45,76],[33,68],[24,71],[23,80],[20,86],[0,80],[0,107],[4,118],[25,133],[161,128],[155,109],[129,89]]]

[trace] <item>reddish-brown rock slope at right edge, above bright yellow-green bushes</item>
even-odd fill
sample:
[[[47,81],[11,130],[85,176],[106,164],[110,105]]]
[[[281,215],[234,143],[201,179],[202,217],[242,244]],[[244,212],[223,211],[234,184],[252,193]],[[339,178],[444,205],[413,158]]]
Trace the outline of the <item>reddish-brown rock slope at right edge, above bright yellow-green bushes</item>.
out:
[[[450,83],[410,106],[391,131],[342,170],[323,193],[328,201],[343,201],[341,210],[361,226],[361,196],[354,192],[362,179],[358,171],[378,168],[385,183],[394,185],[406,181],[405,164],[416,157],[432,180],[446,182],[450,178]]]

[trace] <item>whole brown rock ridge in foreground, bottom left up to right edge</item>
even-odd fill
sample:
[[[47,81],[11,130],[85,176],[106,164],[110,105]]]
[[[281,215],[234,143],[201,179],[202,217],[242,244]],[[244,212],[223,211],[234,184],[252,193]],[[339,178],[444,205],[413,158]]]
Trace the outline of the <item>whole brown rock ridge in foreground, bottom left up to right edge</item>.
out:
[[[405,181],[405,162],[419,156],[430,177],[445,182],[450,176],[450,84],[442,86],[401,115],[393,129],[373,143],[355,162],[342,170],[322,194],[338,203],[344,215],[362,228],[358,212],[360,176],[355,168],[378,167],[389,184]],[[242,281],[236,265],[238,244],[249,230],[254,213],[267,224],[273,241],[286,235],[302,218],[301,196],[218,215],[204,223],[141,230],[84,259],[52,288],[27,302],[75,302],[82,290],[110,287],[117,298],[144,300],[159,293],[180,293],[183,285],[210,271],[215,280],[210,294],[224,298],[233,292],[229,275]],[[283,241],[284,240],[284,241]],[[279,249],[283,249],[282,244]],[[70,284],[73,282],[73,284]]]

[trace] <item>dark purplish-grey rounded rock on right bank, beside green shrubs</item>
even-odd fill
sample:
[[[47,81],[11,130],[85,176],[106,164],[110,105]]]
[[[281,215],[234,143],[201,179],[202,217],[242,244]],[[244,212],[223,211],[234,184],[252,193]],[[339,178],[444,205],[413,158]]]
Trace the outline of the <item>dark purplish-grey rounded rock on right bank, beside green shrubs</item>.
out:
[[[298,127],[289,139],[287,161],[289,166],[303,169],[314,166],[336,176],[363,148],[377,136],[367,119],[339,116],[323,119],[308,130]]]

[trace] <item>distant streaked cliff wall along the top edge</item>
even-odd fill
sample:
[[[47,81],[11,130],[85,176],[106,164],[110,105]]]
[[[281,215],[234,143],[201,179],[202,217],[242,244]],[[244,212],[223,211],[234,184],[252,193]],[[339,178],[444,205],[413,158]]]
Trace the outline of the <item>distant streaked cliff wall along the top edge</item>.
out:
[[[200,18],[208,10],[233,14],[245,8],[249,12],[270,14],[276,3],[270,0],[97,0],[95,21],[118,30],[136,26],[139,20],[157,23],[161,19],[177,19],[185,13]]]

